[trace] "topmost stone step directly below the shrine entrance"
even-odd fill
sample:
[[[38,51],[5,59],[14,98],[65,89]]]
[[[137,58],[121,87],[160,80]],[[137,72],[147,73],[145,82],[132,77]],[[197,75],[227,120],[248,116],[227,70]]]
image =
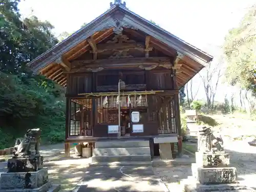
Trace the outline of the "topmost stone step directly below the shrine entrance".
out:
[[[97,141],[95,148],[126,148],[126,147],[149,147],[149,141],[131,140],[131,141]]]

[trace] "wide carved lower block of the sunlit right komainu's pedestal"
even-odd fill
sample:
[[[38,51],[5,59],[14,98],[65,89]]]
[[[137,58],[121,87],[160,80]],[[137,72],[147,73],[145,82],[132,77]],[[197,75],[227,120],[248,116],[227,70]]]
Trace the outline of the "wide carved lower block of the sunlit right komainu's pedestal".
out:
[[[197,171],[196,178],[201,184],[235,183],[238,178],[236,167],[199,167]]]

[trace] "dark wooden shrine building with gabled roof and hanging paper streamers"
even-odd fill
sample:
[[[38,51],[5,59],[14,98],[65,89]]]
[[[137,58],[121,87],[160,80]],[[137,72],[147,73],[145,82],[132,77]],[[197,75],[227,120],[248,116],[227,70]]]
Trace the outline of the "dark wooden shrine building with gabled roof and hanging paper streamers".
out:
[[[69,154],[72,142],[120,137],[172,142],[181,132],[179,89],[211,60],[115,0],[28,65],[66,88]]]

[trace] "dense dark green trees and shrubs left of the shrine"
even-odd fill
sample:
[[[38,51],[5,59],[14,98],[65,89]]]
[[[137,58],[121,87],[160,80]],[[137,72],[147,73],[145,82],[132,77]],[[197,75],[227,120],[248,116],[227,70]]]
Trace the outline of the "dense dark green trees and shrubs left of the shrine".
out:
[[[26,67],[58,40],[49,22],[20,19],[18,3],[0,3],[0,148],[12,146],[33,127],[42,129],[44,142],[65,139],[63,89]]]

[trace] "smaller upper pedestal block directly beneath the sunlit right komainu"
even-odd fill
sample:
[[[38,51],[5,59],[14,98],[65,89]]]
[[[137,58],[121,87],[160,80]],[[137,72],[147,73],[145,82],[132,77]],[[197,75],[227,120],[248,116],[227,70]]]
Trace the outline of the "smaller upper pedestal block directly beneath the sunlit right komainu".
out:
[[[203,154],[196,152],[196,162],[198,167],[227,167],[229,165],[229,154]]]

